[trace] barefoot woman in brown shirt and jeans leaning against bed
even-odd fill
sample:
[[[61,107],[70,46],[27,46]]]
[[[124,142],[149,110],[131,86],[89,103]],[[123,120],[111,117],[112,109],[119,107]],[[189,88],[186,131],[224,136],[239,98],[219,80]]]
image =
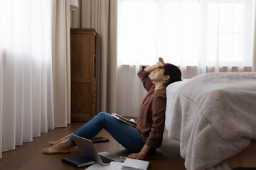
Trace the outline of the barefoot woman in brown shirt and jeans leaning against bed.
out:
[[[150,79],[149,74],[153,71]],[[136,128],[122,123],[109,113],[101,112],[73,134],[90,139],[105,128],[119,144],[133,153],[128,156],[132,159],[144,159],[149,151],[160,147],[164,133],[166,86],[181,81],[181,71],[159,58],[156,64],[142,67],[138,76],[148,94],[139,108]],[[45,154],[66,153],[75,146],[75,142],[70,134],[58,141],[50,141],[49,145],[52,147],[43,149]]]

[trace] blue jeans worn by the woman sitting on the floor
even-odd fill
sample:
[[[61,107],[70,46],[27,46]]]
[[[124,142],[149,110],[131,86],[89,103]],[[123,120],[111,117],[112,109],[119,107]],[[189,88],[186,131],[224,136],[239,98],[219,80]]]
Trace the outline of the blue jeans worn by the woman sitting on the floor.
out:
[[[91,139],[95,137],[100,130],[104,128],[117,140],[119,144],[129,150],[129,152],[138,153],[144,146],[142,134],[136,128],[114,118],[109,113],[98,113],[95,118],[82,125],[78,130],[73,132],[74,135]],[[69,137],[70,142],[75,146],[73,137]]]

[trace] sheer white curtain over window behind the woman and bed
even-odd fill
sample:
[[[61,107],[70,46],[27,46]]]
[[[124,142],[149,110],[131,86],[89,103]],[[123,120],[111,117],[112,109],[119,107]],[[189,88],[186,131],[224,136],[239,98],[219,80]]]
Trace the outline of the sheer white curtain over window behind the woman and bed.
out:
[[[255,0],[119,0],[118,16],[121,115],[137,115],[146,91],[136,73],[158,57],[187,79],[252,71]]]

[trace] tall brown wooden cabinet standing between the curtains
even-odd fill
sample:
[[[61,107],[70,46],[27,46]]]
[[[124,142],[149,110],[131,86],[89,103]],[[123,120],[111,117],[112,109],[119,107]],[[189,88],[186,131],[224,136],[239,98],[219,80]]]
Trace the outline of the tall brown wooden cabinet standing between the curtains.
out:
[[[70,29],[72,121],[88,121],[96,115],[96,50],[95,29]]]

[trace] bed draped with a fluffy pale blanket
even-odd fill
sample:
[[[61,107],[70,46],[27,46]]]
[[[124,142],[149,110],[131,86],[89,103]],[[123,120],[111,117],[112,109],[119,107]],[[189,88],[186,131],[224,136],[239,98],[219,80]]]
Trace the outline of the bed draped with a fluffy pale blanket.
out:
[[[166,130],[186,169],[230,169],[256,139],[255,72],[201,74],[170,84],[166,96]]]

